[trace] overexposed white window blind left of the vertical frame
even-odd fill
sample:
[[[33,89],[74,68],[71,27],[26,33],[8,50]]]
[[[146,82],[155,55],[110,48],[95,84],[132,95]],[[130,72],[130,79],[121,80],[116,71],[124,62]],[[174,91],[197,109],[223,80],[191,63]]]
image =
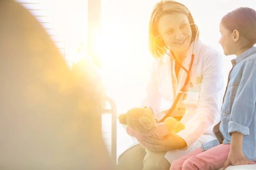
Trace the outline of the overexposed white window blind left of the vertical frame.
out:
[[[86,55],[88,0],[16,0],[41,23],[69,68]]]

